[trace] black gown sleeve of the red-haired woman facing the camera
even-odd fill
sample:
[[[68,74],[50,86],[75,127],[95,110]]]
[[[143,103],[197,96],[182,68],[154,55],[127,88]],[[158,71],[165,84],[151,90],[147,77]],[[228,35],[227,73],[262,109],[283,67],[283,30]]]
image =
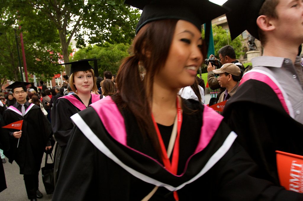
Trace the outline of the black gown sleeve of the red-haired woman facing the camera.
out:
[[[60,146],[66,146],[68,143],[70,132],[74,127],[70,117],[77,112],[78,110],[64,98],[55,102],[51,112],[52,130]]]

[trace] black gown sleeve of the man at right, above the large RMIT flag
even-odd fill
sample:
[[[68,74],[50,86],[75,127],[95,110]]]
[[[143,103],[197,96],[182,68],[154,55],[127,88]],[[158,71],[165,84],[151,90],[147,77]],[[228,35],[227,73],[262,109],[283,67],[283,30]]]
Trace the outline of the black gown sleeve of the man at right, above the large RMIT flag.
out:
[[[303,136],[297,130],[303,127],[294,120],[281,118],[276,110],[258,104],[238,103],[225,121],[238,134],[237,141],[259,165],[263,178],[276,185],[279,185],[279,179],[275,151],[303,154]]]

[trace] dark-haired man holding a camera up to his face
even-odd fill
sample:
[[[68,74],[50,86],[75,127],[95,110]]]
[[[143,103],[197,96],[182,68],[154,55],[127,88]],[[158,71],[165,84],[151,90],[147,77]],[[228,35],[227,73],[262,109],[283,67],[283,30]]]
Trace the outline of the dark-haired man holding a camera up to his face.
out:
[[[225,45],[218,51],[218,53],[219,53],[219,61],[212,54],[210,55],[209,59],[208,60],[205,59],[205,61],[213,60],[212,62],[207,63],[208,64],[207,82],[208,82],[208,86],[212,90],[216,90],[216,89],[220,88],[220,93],[217,95],[217,99],[219,100],[221,94],[225,91],[225,88],[220,87],[219,81],[218,81],[217,77],[215,77],[215,74],[213,73],[213,70],[215,70],[214,66],[216,66],[217,68],[220,68],[221,65],[223,65],[223,64],[233,63],[233,64],[237,65],[241,70],[240,79],[242,77],[244,66],[238,60],[236,60],[235,50],[230,45]],[[213,63],[213,64],[211,64],[211,63]]]

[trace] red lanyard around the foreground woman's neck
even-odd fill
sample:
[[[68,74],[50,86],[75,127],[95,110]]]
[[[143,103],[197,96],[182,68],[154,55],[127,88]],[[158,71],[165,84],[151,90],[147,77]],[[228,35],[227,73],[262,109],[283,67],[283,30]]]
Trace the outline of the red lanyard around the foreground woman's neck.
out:
[[[159,131],[158,125],[154,119],[154,116],[151,114],[152,120],[154,122],[154,126],[157,132],[157,136],[158,136],[158,140],[160,143],[160,148],[161,148],[161,159],[164,163],[165,168],[170,171],[173,174],[177,174],[178,171],[178,162],[179,162],[179,141],[180,141],[180,131],[181,131],[181,125],[182,125],[182,110],[181,110],[181,106],[179,104],[179,100],[177,97],[176,100],[176,104],[177,104],[177,120],[178,120],[178,124],[177,124],[177,137],[175,140],[175,145],[174,145],[174,150],[172,153],[172,160],[170,162],[168,156],[167,156],[167,150],[165,148],[165,145],[163,143],[163,139],[161,137],[161,133]],[[179,200],[178,198],[178,194],[176,191],[174,191],[174,198],[175,200]]]

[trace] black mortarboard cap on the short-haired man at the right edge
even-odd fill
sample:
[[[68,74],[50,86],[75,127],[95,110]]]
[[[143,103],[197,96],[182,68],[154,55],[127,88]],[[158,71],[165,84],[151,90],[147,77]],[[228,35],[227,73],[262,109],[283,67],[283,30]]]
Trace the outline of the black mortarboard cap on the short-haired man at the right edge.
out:
[[[256,20],[265,0],[228,0],[223,7],[231,11],[226,13],[231,40],[247,30],[259,40]]]

